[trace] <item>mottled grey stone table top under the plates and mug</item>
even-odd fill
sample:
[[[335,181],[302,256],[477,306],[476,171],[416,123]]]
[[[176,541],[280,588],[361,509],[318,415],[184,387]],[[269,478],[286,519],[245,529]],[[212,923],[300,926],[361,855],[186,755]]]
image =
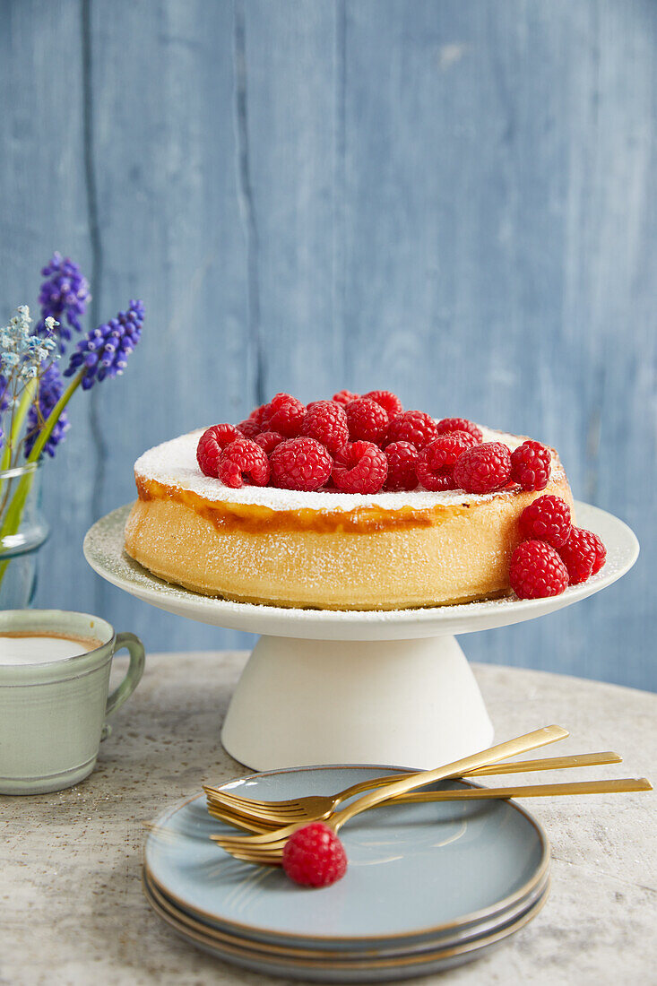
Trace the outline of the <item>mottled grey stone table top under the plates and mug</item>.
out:
[[[140,884],[144,823],[198,792],[204,779],[245,772],[219,743],[245,660],[241,653],[150,655],[87,781],[52,795],[0,798],[2,986],[282,982],[183,944],[151,912]],[[558,722],[571,733],[559,753],[611,748],[624,756],[623,764],[579,777],[654,781],[656,695],[540,671],[475,672],[498,739]],[[546,907],[490,956],[415,982],[657,982],[656,804],[652,793],[528,803],[552,844]]]

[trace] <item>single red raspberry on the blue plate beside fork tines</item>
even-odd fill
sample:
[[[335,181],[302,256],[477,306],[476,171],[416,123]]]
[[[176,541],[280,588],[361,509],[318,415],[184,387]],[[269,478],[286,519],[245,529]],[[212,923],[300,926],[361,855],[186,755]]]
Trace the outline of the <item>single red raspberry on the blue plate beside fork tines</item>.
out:
[[[346,868],[344,846],[323,821],[298,828],[283,847],[283,870],[303,886],[329,886]]]

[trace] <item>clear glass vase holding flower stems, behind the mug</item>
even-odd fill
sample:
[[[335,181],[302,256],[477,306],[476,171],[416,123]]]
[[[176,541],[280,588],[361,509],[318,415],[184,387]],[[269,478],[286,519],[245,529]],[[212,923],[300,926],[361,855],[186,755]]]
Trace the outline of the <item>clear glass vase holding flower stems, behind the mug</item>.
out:
[[[40,503],[40,462],[0,471],[0,609],[25,609],[35,598],[37,553],[49,533]]]

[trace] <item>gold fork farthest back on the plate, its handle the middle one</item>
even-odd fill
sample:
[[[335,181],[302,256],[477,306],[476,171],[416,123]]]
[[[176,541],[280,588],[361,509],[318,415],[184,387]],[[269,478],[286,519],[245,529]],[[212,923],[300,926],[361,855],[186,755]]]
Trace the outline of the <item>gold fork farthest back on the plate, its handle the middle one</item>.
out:
[[[566,767],[597,767],[606,763],[621,763],[618,753],[606,750],[603,753],[574,753],[570,756],[551,756],[535,760],[518,760],[515,763],[494,763],[476,767],[465,776],[469,778],[486,777],[491,774],[520,774],[538,770],[563,770]],[[416,771],[413,771],[416,773]],[[296,798],[288,801],[254,801],[240,798],[221,788],[203,785],[207,796],[208,811],[216,818],[225,818],[229,824],[240,827],[240,819],[246,824],[241,827],[248,831],[264,831],[276,825],[288,825],[293,821],[319,821],[326,818],[342,802],[348,801],[364,791],[375,790],[386,784],[392,784],[412,774],[389,774],[388,777],[375,777],[369,781],[352,784],[336,795],[310,795],[306,798]],[[255,827],[252,825],[255,824]],[[262,826],[259,828],[258,826]]]

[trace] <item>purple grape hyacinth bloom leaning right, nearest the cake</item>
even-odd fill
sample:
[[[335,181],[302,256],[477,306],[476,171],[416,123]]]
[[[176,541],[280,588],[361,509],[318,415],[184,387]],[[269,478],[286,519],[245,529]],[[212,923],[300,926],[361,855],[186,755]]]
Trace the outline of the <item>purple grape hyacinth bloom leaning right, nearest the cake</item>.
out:
[[[127,364],[128,354],[139,342],[143,320],[144,303],[131,301],[127,312],[119,312],[115,318],[88,332],[78,342],[64,370],[64,377],[72,377],[84,367],[82,387],[88,390],[97,380],[120,376]]]

